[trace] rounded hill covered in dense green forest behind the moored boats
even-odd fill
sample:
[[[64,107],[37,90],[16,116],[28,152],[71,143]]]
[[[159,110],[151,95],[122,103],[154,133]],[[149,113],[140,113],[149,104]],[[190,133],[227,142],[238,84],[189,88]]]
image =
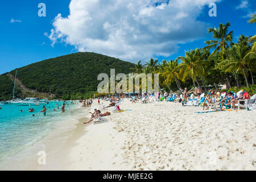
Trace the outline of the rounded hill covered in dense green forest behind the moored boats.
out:
[[[15,96],[35,97],[40,92],[64,100],[85,98],[97,90],[100,73],[110,75],[110,68],[115,68],[115,73],[127,74],[132,67],[133,63],[92,52],[60,56],[19,68],[17,77],[22,84],[17,84]],[[0,100],[12,95],[15,70],[10,74],[0,75]]]

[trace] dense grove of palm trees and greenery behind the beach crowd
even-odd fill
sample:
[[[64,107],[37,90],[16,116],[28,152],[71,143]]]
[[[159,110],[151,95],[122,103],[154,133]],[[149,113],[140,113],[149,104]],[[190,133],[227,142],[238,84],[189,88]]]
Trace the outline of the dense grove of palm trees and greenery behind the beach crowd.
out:
[[[255,15],[250,23],[255,23]],[[183,88],[218,89],[226,85],[227,89],[240,89],[246,86],[251,94],[256,93],[256,35],[241,35],[233,42],[234,31],[231,24],[220,23],[219,27],[209,28],[212,40],[205,47],[185,51],[184,56],[176,60],[162,62],[151,58],[146,64],[141,61],[131,70],[134,73],[159,73],[159,85],[164,90]]]

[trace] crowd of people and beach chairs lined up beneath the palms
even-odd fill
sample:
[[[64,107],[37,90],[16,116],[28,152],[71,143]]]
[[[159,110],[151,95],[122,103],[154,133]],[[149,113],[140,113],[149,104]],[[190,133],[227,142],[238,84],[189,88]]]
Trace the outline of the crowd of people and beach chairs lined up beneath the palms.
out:
[[[252,102],[255,103],[256,94],[254,94]],[[170,100],[169,100],[170,99]],[[167,93],[157,92],[156,94],[142,93],[134,94],[131,96],[131,103],[135,104],[141,102],[143,104],[154,101],[171,101],[171,102],[181,102],[183,106],[187,105],[189,101],[196,101],[194,106],[202,106],[203,110],[208,110],[209,105],[216,105],[222,107],[228,106],[236,111],[236,106],[239,102],[240,106],[245,105],[246,100],[249,100],[249,93],[241,89],[239,92],[221,92],[220,89],[210,89],[208,92],[203,92],[200,88],[196,88],[191,92],[185,88],[184,92]],[[245,107],[245,106],[244,106]]]

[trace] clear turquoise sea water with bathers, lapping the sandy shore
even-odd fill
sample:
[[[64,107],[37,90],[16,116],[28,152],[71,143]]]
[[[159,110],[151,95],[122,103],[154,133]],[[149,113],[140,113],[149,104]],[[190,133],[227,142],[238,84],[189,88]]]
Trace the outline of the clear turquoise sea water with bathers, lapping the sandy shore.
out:
[[[61,102],[49,102],[47,114],[39,114],[43,106],[16,106],[1,105],[0,109],[0,162],[10,156],[22,151],[39,142],[49,133],[54,131],[53,123],[59,122],[63,118],[70,118],[73,110],[78,105],[66,107],[65,114],[61,114]],[[56,106],[58,104],[58,106]],[[57,109],[59,107],[60,109]],[[34,108],[34,113],[29,113],[28,109]],[[54,111],[55,109],[56,111]],[[21,113],[20,110],[23,110]],[[35,116],[32,116],[35,114]]]

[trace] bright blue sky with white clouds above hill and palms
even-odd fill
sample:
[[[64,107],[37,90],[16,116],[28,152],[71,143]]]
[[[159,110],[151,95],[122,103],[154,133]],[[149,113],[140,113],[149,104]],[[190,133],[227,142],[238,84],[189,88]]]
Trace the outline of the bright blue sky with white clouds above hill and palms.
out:
[[[0,74],[78,51],[102,53],[132,62],[146,61],[151,56],[159,60],[175,59],[184,55],[184,50],[204,47],[204,41],[212,39],[207,34],[207,27],[228,21],[231,23],[229,31],[234,30],[234,42],[241,34],[255,34],[255,24],[247,23],[250,18],[246,17],[255,13],[255,1],[216,0],[217,17],[208,16],[210,1],[206,0],[203,9],[198,9],[193,3],[191,6],[180,5],[182,8],[167,7],[166,1],[143,0],[148,3],[146,6],[139,4],[134,7],[128,3],[119,5],[118,0],[108,1],[105,5],[104,1],[99,4],[79,1],[81,4],[73,3],[70,7],[70,0],[1,2]],[[38,16],[38,4],[41,2],[46,4],[46,17]],[[167,8],[168,11],[164,11]],[[172,9],[174,11],[170,11]],[[181,11],[183,13],[179,14]],[[61,15],[55,18],[58,14]],[[67,18],[69,14],[72,16]],[[180,24],[178,20],[170,20],[170,17],[177,19],[176,14],[180,15]],[[130,20],[132,18],[133,21]],[[186,27],[187,24],[189,26]],[[173,31],[168,31],[168,28]],[[185,33],[189,34],[186,38]]]

